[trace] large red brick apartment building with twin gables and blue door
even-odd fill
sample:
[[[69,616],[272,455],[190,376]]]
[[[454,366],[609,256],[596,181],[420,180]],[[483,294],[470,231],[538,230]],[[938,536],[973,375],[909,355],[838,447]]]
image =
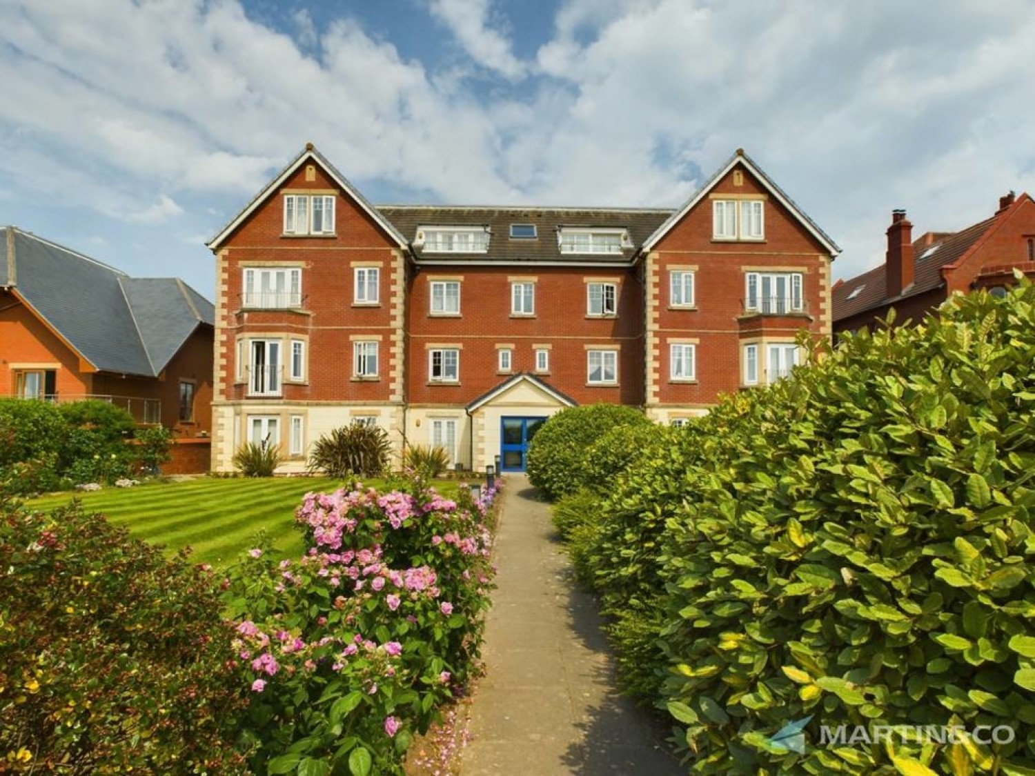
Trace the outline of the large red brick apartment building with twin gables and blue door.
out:
[[[834,242],[738,151],[677,210],[374,206],[312,145],[215,238],[212,468],[349,422],[523,470],[575,404],[661,422],[831,331]]]

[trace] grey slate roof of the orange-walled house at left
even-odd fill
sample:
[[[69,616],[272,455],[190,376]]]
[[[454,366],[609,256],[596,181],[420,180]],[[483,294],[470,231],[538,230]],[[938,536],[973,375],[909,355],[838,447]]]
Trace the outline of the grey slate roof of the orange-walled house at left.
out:
[[[131,278],[14,227],[0,233],[0,285],[13,286],[97,369],[157,377],[199,325],[214,324],[212,304],[179,279]]]

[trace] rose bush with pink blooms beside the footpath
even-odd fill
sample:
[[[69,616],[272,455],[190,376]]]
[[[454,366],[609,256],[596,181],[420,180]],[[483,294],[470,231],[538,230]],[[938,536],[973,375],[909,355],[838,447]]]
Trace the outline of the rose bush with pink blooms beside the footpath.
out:
[[[411,489],[307,494],[307,553],[257,547],[231,573],[256,773],[403,774],[414,733],[477,669],[496,489]]]

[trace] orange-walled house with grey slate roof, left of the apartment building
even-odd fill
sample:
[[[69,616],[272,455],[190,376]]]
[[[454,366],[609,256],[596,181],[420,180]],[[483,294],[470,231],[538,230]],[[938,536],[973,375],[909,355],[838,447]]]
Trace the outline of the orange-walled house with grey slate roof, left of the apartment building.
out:
[[[29,232],[0,229],[0,396],[99,398],[138,423],[204,438],[212,334],[212,303],[182,280],[129,277]]]

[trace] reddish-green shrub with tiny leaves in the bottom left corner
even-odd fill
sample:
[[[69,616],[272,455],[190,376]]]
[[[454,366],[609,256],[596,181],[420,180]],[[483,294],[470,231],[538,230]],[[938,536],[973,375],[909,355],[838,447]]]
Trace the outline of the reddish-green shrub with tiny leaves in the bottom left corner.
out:
[[[210,572],[78,507],[0,503],[0,770],[243,772]]]

